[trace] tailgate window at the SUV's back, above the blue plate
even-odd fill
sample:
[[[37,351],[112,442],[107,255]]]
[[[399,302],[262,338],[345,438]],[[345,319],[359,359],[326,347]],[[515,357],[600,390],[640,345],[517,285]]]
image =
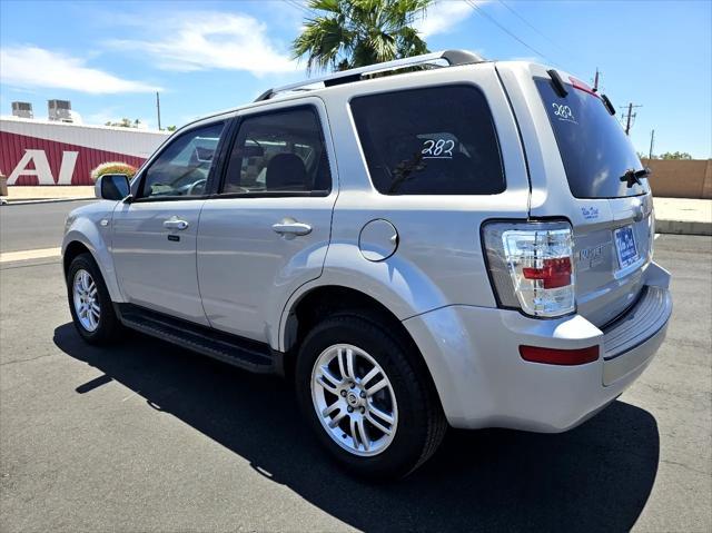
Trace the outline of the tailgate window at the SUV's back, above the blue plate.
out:
[[[642,170],[633,145],[600,98],[567,86],[561,98],[548,79],[535,79],[554,129],[571,193],[577,198],[622,198],[647,191],[647,180],[627,187],[626,170]]]

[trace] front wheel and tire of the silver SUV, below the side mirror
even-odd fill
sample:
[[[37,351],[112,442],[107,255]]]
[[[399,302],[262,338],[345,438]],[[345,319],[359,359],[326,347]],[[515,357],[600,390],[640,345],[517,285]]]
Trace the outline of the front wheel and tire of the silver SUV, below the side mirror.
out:
[[[121,325],[113,312],[113,304],[101,272],[91,254],[80,254],[69,265],[67,296],[75,327],[87,343],[106,345],[118,339]],[[86,312],[81,310],[82,302]],[[98,313],[92,304],[98,307]]]

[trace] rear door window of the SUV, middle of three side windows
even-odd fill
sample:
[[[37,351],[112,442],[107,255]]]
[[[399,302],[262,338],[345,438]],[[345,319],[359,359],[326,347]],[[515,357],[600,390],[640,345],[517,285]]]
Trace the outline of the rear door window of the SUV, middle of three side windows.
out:
[[[245,118],[237,132],[224,194],[332,189],[319,117],[310,106]]]

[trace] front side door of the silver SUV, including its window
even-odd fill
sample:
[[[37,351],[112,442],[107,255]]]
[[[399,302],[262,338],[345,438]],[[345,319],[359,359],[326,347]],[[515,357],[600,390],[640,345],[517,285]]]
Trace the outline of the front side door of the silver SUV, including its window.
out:
[[[196,235],[224,121],[171,139],[112,218],[111,251],[127,303],[207,325],[196,270]]]

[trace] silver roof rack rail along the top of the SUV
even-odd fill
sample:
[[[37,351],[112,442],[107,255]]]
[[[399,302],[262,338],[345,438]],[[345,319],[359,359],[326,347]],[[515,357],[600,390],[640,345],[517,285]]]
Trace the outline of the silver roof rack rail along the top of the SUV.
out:
[[[308,79],[290,83],[284,87],[276,87],[274,89],[266,90],[259,95],[255,101],[269,100],[278,92],[287,92],[294,90],[309,90],[308,86],[316,83],[324,83],[324,87],[333,87],[342,83],[350,83],[353,81],[359,81],[367,75],[374,75],[379,72],[387,72],[389,70],[399,70],[408,67],[416,67],[418,65],[432,65],[438,66],[436,61],[447,61],[449,67],[457,65],[471,65],[485,61],[482,56],[478,56],[466,50],[444,50],[441,52],[424,53],[422,56],[413,56],[411,58],[396,59],[395,61],[386,61],[383,63],[369,65],[367,67],[359,67],[357,69],[342,70],[334,72],[329,76],[323,76],[320,78]]]

